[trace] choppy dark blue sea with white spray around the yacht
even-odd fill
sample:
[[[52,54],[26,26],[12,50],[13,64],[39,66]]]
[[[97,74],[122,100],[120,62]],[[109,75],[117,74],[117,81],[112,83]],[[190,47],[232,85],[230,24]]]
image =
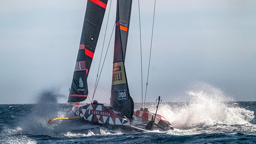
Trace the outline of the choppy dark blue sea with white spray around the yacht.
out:
[[[0,105],[0,143],[256,143],[256,101],[191,91],[186,102],[159,105],[157,113],[174,130],[125,133],[82,119],[48,125],[49,119],[66,116],[72,107],[58,103],[54,95],[43,95],[35,104]],[[156,111],[155,102],[146,106]],[[135,103],[134,109],[140,107]]]

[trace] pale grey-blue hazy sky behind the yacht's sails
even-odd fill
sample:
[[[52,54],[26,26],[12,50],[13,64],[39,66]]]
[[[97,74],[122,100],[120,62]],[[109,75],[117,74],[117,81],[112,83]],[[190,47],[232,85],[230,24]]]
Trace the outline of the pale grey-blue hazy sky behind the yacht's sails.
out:
[[[132,2],[125,68],[130,94],[141,102],[138,1]],[[66,103],[86,1],[0,0],[0,104],[34,103],[50,91]],[[88,76],[92,95],[110,9],[103,55],[115,22],[108,0]],[[147,83],[154,1],[140,0],[143,97]],[[108,103],[114,38],[95,94]],[[205,84],[238,101],[256,100],[256,1],[156,0],[146,101],[177,101]],[[207,88],[204,88],[207,89]],[[143,98],[144,99],[144,98]],[[181,100],[182,101],[182,100]]]

